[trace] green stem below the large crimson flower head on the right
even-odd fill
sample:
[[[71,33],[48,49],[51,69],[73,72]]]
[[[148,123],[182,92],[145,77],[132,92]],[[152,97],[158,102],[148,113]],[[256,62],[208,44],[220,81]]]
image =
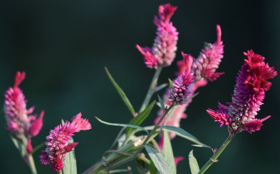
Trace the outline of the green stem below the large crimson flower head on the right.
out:
[[[218,151],[208,160],[208,162],[201,168],[198,174],[204,174],[210,166],[217,162],[217,158],[222,154],[222,152],[226,149],[229,145],[231,140],[233,139],[234,135],[229,135],[222,146],[218,149]]]

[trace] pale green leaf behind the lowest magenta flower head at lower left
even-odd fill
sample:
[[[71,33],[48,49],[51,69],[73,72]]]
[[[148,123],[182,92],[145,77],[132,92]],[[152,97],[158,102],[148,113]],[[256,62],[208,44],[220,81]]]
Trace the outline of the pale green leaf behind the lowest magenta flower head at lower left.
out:
[[[64,125],[64,120],[61,120],[61,124]],[[73,138],[68,141],[68,143],[74,143]],[[77,174],[77,163],[75,157],[75,149],[71,152],[66,153],[66,157],[64,160],[63,174]]]

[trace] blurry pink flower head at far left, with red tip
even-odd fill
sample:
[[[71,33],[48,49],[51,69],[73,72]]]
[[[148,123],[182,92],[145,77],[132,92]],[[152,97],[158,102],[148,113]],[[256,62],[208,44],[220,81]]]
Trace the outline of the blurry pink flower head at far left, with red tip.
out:
[[[37,135],[42,127],[42,114],[39,118],[31,115],[34,107],[26,109],[26,99],[22,90],[18,87],[20,83],[24,80],[25,73],[17,72],[15,75],[14,86],[9,87],[6,90],[4,96],[4,112],[7,123],[7,129],[17,137],[27,135],[35,136]],[[38,121],[39,120],[39,121]],[[29,129],[33,126],[33,123],[40,126],[35,126],[32,128],[32,133],[30,134]],[[33,126],[34,127],[34,126]],[[35,134],[33,133],[35,132]]]

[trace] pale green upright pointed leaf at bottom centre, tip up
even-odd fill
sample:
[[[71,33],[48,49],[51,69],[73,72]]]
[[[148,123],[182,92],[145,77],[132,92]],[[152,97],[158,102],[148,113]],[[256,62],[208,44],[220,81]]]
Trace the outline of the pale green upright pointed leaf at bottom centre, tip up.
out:
[[[163,131],[163,148],[161,154],[167,162],[170,174],[177,174],[173,150],[169,139],[169,135],[166,130]]]

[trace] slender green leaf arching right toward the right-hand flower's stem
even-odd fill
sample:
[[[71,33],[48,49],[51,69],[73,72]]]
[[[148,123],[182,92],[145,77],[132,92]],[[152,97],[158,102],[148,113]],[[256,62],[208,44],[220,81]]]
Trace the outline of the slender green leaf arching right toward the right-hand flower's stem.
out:
[[[182,128],[175,127],[175,126],[161,126],[162,129],[166,129],[168,132],[172,132],[182,138],[190,140],[196,144],[202,144],[195,136],[191,135],[187,131],[183,130]]]

